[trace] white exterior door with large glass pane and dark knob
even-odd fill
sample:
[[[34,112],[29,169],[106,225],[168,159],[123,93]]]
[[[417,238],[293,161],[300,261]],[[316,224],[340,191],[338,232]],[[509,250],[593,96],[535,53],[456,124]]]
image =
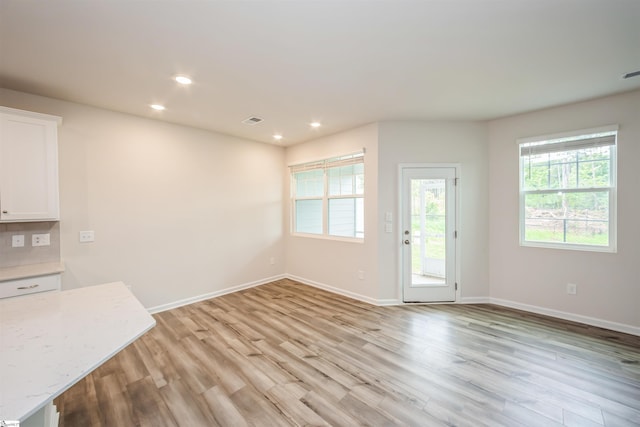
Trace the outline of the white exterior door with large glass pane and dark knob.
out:
[[[456,167],[401,167],[402,299],[456,298]]]

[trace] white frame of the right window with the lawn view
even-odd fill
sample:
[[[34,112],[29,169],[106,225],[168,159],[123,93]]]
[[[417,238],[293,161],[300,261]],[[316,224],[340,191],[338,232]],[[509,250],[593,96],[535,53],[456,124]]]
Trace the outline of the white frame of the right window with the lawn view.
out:
[[[610,158],[609,158],[609,186],[591,186],[591,187],[578,187],[578,188],[545,188],[545,189],[525,189],[524,188],[524,174],[523,174],[523,148],[534,145],[545,144],[565,144],[568,146],[566,150],[553,150],[553,152],[567,152],[571,151],[571,141],[588,141],[590,139],[609,135],[613,136],[613,144],[610,144]],[[587,143],[589,145],[589,143]],[[595,147],[596,145],[589,146]],[[589,148],[585,147],[585,148]],[[518,217],[519,217],[519,244],[522,247],[537,247],[537,248],[549,248],[549,249],[565,249],[565,250],[578,250],[589,252],[617,252],[617,151],[618,151],[618,125],[601,126],[597,128],[581,129],[570,132],[563,132],[551,135],[542,135],[529,138],[518,138]],[[550,153],[551,151],[547,151]],[[608,192],[609,200],[609,215],[608,215],[608,245],[595,245],[584,243],[570,243],[570,242],[548,242],[526,239],[526,206],[525,197],[530,194],[586,194],[593,192]]]

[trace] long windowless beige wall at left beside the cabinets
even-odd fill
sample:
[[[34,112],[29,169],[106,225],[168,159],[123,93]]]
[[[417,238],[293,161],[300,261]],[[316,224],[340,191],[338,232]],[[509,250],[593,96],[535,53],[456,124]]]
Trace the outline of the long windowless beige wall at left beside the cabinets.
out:
[[[155,307],[285,272],[282,148],[4,89],[0,104],[63,117],[65,289],[121,280]]]

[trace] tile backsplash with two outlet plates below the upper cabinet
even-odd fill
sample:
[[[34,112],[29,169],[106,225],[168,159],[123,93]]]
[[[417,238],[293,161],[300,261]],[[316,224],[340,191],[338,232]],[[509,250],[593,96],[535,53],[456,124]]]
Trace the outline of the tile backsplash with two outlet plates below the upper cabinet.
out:
[[[50,235],[49,246],[31,245],[34,234]],[[24,236],[24,246],[11,246],[12,237]],[[19,222],[0,224],[0,268],[15,267],[60,260],[60,223],[54,222]]]

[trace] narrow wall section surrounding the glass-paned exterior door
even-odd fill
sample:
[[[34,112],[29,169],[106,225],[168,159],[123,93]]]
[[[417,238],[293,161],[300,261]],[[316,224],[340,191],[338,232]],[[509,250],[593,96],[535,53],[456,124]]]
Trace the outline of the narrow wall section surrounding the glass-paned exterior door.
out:
[[[379,283],[382,300],[401,300],[398,165],[400,163],[459,163],[460,299],[489,294],[488,151],[482,123],[383,122],[379,125],[378,215],[392,212],[394,233],[379,225]]]

